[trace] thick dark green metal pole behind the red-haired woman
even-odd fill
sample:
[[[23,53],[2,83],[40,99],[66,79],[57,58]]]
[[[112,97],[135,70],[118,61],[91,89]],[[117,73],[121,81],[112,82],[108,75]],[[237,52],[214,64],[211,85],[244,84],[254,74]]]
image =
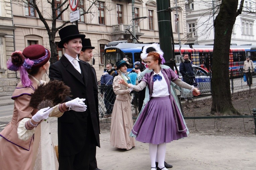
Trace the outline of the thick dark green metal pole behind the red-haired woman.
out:
[[[170,0],[156,0],[160,48],[164,51],[165,64],[174,69],[174,64],[171,62],[174,56],[171,35],[172,23],[169,7]]]

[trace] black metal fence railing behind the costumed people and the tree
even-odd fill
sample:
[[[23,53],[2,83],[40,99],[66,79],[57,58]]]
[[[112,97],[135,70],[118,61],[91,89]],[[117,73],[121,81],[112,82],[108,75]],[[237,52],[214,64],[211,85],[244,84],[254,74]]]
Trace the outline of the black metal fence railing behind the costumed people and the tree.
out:
[[[249,79],[247,86],[247,81],[244,81],[244,75]],[[197,74],[195,75],[195,80],[197,83],[197,88],[202,95],[211,95],[211,72],[208,74]],[[232,93],[234,90],[240,90],[256,86],[256,74],[249,70],[248,74],[244,69],[231,70],[230,71],[230,90]],[[98,86],[98,99],[99,99],[99,117],[101,122],[111,122],[111,114],[113,111],[113,106],[116,100],[116,95],[113,91],[112,85]],[[131,108],[132,117],[136,118],[138,116],[138,97],[137,92],[131,92]]]

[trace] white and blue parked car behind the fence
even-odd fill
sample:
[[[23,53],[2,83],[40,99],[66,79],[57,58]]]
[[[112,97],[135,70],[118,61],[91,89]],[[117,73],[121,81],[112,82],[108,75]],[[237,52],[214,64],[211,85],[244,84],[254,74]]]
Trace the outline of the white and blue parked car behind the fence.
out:
[[[180,69],[180,66],[177,66],[178,70]],[[198,67],[196,65],[192,64],[192,68],[196,77],[196,82],[197,82],[197,88],[200,90],[201,94],[202,93],[209,93],[211,92],[211,79],[210,79],[210,74],[203,68]],[[175,70],[175,68],[174,68]],[[177,71],[175,70],[177,73]],[[179,72],[179,77],[182,79],[182,75]]]

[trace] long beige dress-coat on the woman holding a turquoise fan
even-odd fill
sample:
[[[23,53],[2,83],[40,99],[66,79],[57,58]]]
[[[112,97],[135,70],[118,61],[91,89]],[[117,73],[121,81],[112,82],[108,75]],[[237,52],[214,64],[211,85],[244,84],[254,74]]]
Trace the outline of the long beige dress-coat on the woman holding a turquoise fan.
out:
[[[119,74],[113,81],[113,91],[117,96],[112,112],[110,143],[116,148],[130,150],[135,147],[135,139],[129,136],[133,127],[131,96],[126,86],[118,84],[121,79]]]

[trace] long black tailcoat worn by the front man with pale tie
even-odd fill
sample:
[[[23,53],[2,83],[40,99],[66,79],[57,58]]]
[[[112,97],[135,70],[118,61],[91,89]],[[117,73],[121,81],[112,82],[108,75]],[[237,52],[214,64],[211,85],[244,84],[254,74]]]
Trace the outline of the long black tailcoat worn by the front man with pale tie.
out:
[[[100,147],[99,124],[98,124],[98,89],[94,79],[94,74],[89,63],[78,61],[81,74],[74,68],[69,60],[63,55],[61,59],[50,65],[49,78],[51,80],[62,80],[71,88],[72,97],[84,98],[87,110],[85,112],[75,112],[73,110],[65,112],[58,118],[58,147],[60,155],[74,155],[78,153],[85,144],[87,131],[87,116],[91,117],[91,134],[95,136],[92,140],[96,146]],[[92,136],[93,137],[93,136]]]

